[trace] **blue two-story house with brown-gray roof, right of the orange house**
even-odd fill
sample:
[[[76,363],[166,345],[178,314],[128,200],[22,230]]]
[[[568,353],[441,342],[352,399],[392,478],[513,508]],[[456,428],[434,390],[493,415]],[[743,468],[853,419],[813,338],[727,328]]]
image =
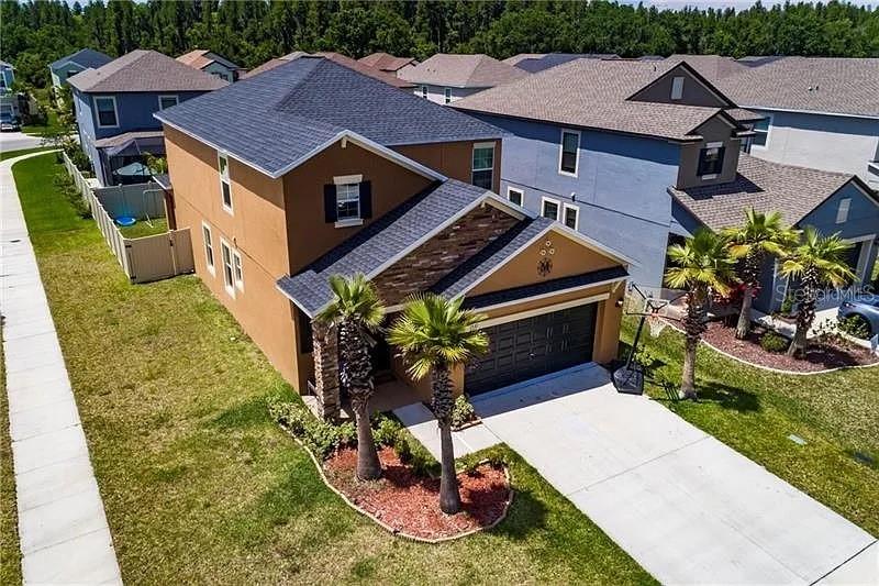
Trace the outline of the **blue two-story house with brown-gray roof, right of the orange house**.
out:
[[[654,290],[663,285],[668,243],[694,228],[678,195],[704,199],[748,192],[730,199],[737,208],[724,221],[735,224],[757,199],[763,209],[782,208],[775,201],[777,184],[767,175],[800,173],[769,168],[742,154],[743,141],[755,134],[750,125],[761,115],[738,108],[686,62],[579,59],[454,107],[510,133],[501,167],[508,199],[613,243],[637,262],[633,280]],[[861,185],[837,201],[843,183],[849,181],[816,184],[813,194],[793,202],[797,213],[786,217],[791,223],[814,214],[838,217],[834,232],[872,242],[869,189]],[[864,272],[875,262],[871,248],[865,244],[857,261]]]

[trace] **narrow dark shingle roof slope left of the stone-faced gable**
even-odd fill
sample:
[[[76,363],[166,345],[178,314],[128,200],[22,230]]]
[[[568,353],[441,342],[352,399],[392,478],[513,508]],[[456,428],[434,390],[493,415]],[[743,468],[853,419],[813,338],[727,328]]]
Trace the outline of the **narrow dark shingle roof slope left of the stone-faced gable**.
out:
[[[369,275],[487,194],[482,188],[455,179],[434,185],[386,213],[297,275],[280,278],[278,287],[313,314],[332,299],[329,285],[331,276]]]

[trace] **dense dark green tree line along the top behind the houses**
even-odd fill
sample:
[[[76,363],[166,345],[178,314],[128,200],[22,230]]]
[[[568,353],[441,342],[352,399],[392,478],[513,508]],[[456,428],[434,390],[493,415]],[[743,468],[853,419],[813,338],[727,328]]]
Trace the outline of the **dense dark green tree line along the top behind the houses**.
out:
[[[605,0],[2,0],[2,58],[35,87],[82,47],[111,56],[210,48],[251,68],[291,51],[879,56],[879,8],[831,1],[657,10]]]

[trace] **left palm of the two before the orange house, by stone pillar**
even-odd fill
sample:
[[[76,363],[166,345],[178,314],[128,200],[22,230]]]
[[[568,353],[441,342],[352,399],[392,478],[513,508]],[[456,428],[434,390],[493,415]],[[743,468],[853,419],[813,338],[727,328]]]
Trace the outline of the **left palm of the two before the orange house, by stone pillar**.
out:
[[[357,424],[357,478],[372,480],[381,476],[372,429],[369,427],[369,399],[372,397],[372,363],[367,333],[376,331],[385,318],[385,307],[376,288],[364,275],[346,279],[330,277],[333,301],[318,320],[338,327],[340,379],[351,397]]]

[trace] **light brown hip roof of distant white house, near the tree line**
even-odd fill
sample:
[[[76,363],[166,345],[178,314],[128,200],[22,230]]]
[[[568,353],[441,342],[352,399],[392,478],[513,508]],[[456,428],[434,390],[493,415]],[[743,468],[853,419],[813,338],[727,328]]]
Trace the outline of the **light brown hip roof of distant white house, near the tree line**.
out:
[[[437,53],[415,67],[402,71],[400,77],[414,84],[456,88],[491,88],[522,79],[527,75],[527,71],[488,55]]]

